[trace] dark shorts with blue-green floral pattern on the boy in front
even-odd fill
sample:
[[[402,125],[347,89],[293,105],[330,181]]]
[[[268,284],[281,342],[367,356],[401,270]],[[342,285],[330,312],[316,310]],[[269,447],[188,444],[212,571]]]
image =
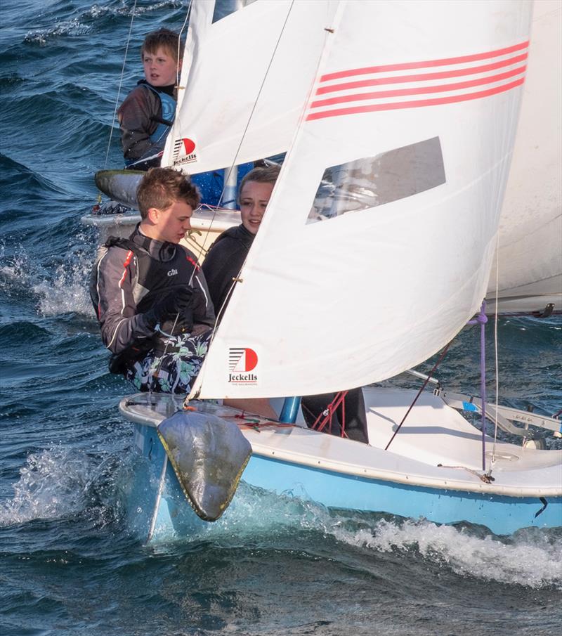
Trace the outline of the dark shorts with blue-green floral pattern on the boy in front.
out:
[[[186,394],[201,370],[212,331],[197,336],[179,335],[166,339],[165,353],[151,349],[126,372],[126,379],[138,391]]]

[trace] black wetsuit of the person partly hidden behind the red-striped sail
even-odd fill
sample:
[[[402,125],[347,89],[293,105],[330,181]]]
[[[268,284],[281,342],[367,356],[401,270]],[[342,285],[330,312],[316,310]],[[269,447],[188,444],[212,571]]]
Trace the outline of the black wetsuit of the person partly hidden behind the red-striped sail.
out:
[[[230,292],[233,290],[233,278],[240,273],[244,264],[244,259],[248,254],[254,234],[249,232],[243,225],[230,228],[223,232],[211,245],[211,249],[203,261],[203,273],[209,285],[209,293],[213,301],[216,313],[220,319],[220,313],[224,311],[223,303],[228,304]],[[332,402],[336,394],[328,393],[315,396],[303,396],[301,398],[301,408],[304,419],[308,427],[311,427],[318,415],[322,413],[327,405]],[[341,423],[350,439],[368,443],[367,418],[365,416],[365,401],[361,389],[350,389],[344,409],[341,406],[332,417],[332,435],[341,435]]]

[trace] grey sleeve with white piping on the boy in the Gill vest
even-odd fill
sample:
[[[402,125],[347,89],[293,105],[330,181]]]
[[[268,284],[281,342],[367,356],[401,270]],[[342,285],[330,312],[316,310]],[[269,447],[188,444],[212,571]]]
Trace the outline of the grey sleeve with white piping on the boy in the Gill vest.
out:
[[[151,321],[137,313],[132,293],[132,277],[136,272],[135,257],[119,247],[105,251],[94,266],[91,297],[98,317],[103,344],[112,353],[129,347],[145,346],[154,335]]]

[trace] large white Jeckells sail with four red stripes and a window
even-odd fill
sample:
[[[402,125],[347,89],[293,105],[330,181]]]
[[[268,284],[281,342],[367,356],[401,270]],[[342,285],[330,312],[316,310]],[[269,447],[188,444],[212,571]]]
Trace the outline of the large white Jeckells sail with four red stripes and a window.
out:
[[[483,299],[529,2],[341,2],[192,394],[318,394],[402,372]]]

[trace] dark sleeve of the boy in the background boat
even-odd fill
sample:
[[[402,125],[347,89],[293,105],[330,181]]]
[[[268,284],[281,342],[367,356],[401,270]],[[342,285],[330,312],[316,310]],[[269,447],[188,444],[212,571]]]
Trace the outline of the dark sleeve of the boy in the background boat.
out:
[[[136,86],[117,110],[121,126],[121,144],[126,160],[136,161],[149,156],[151,150],[158,152],[162,148],[150,141],[158,124],[154,117],[162,117],[162,103],[158,96],[145,87]],[[159,163],[159,162],[158,162]]]

